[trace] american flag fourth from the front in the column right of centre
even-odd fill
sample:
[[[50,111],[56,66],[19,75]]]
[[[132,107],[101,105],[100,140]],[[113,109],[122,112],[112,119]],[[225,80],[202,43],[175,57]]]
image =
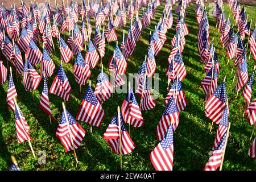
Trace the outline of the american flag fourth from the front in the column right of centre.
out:
[[[180,81],[183,81],[185,76],[187,75],[187,72],[186,72],[180,51],[177,51],[173,61],[174,61],[174,70],[175,72],[179,73]]]

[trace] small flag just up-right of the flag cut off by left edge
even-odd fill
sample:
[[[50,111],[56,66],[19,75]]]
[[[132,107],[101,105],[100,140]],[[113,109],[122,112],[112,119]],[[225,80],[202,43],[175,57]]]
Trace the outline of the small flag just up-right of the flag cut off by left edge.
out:
[[[11,55],[12,57],[10,58],[10,60],[13,60],[13,67],[15,68],[16,72],[20,75],[21,73],[23,73],[24,65],[20,49],[15,43],[13,48],[11,48]]]

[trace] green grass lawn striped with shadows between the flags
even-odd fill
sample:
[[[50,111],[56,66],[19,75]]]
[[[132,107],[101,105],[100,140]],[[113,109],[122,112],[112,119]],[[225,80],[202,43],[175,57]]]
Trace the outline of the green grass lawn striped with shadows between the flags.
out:
[[[207,10],[210,10],[208,4],[205,5]],[[142,35],[137,42],[137,47],[133,55],[129,56],[127,63],[126,75],[129,73],[137,73],[142,64],[144,55],[147,53],[147,43],[150,31],[154,30],[155,25],[158,23],[160,15],[163,12],[164,6],[159,6],[156,10],[155,19],[152,20],[151,26],[142,31]],[[246,6],[249,19],[253,18],[256,22],[256,12],[254,7]],[[176,5],[173,7],[173,12]],[[184,111],[180,112],[180,123],[174,134],[174,170],[202,170],[208,162],[208,152],[212,148],[214,138],[216,136],[217,125],[213,125],[212,133],[209,133],[210,119],[204,115],[204,92],[200,88],[200,83],[204,78],[204,65],[200,63],[200,56],[197,50],[197,32],[198,24],[195,19],[195,3],[187,7],[185,18],[189,34],[185,36],[186,44],[183,51],[183,60],[187,70],[183,89],[187,98],[187,107]],[[226,17],[231,12],[229,7],[225,5]],[[149,158],[150,152],[158,144],[156,141],[155,129],[162,117],[164,111],[164,98],[167,96],[167,77],[164,75],[168,67],[167,58],[171,51],[170,41],[175,34],[177,15],[174,14],[174,24],[167,32],[167,42],[164,44],[162,51],[155,57],[156,60],[156,73],[159,73],[159,98],[156,100],[157,105],[154,109],[149,111],[142,111],[145,121],[144,126],[140,128],[131,127],[131,138],[133,139],[136,147],[131,154],[124,155],[123,169],[124,170],[154,170]],[[232,64],[226,65],[228,61],[225,49],[222,49],[220,44],[219,35],[217,32],[216,21],[212,16],[208,15],[210,24],[210,39],[214,37],[214,45],[218,59],[220,60],[220,74],[218,76],[218,85],[224,80],[226,76],[226,89],[228,93],[230,117],[229,122],[232,123],[230,128],[230,138],[228,146],[226,147],[226,154],[224,160],[223,170],[255,170],[256,162],[253,158],[247,155],[247,151],[252,140],[249,140],[252,127],[249,126],[246,118],[242,118],[243,110],[245,109],[245,100],[243,99],[240,91],[238,98],[236,98],[236,82],[232,85],[234,73],[231,74]],[[233,23],[232,18],[232,23]],[[106,22],[105,22],[106,23]],[[126,24],[126,32],[129,28],[130,22]],[[254,23],[253,23],[254,24]],[[92,26],[94,24],[92,23]],[[116,28],[118,34],[118,42],[122,41],[122,30]],[[236,30],[235,30],[236,31]],[[93,28],[94,34],[94,28]],[[68,34],[66,34],[68,36]],[[65,39],[67,40],[67,36]],[[247,38],[246,38],[247,40]],[[120,44],[119,44],[120,45]],[[106,46],[106,55],[103,59],[104,71],[108,73],[108,61],[112,55],[115,42]],[[57,44],[55,44],[57,48]],[[109,51],[108,51],[109,48]],[[85,51],[82,52],[85,55]],[[24,56],[24,55],[23,55]],[[48,80],[48,88],[51,86],[52,81],[57,72],[60,64],[59,50],[51,54],[51,57],[56,65],[54,75]],[[75,117],[79,110],[80,103],[84,96],[86,86],[82,86],[82,93],[79,92],[79,85],[73,76],[73,64],[75,63],[76,56],[68,63],[64,64],[65,73],[68,76],[69,82],[72,87],[71,100],[66,102],[67,109]],[[2,57],[2,60],[4,58]],[[233,61],[233,60],[232,60]],[[249,60],[249,52],[247,52],[247,64],[249,76],[253,71],[254,60],[251,56]],[[40,68],[37,68],[40,72]],[[94,88],[97,81],[97,75],[100,73],[99,64],[92,71],[90,80],[92,80],[92,87]],[[108,73],[109,74],[109,73]],[[109,147],[108,143],[102,139],[106,127],[113,116],[117,113],[117,106],[121,106],[126,94],[113,94],[113,98],[109,98],[103,104],[105,111],[105,121],[100,128],[93,127],[93,133],[90,134],[90,127],[86,123],[79,121],[82,127],[86,130],[86,135],[81,143],[77,152],[79,164],[76,166],[73,152],[65,152],[60,140],[55,137],[56,129],[60,121],[63,101],[49,93],[49,100],[51,101],[51,109],[53,117],[55,118],[52,125],[49,123],[49,118],[44,111],[39,107],[40,93],[42,92],[43,82],[40,83],[37,90],[33,94],[35,101],[32,101],[32,93],[26,92],[22,84],[22,77],[14,75],[14,82],[16,91],[18,93],[18,105],[22,110],[24,117],[26,117],[28,125],[31,127],[32,146],[36,154],[39,151],[46,152],[46,164],[38,164],[38,155],[33,158],[28,142],[18,143],[15,131],[15,117],[13,111],[10,111],[6,105],[6,92],[7,81],[0,86],[0,169],[9,169],[11,163],[11,155],[14,155],[18,161],[20,168],[23,170],[119,170],[119,155],[114,154]],[[255,84],[253,86],[255,90]],[[252,99],[255,98],[256,93],[253,91]],[[137,101],[139,99],[137,97]],[[126,126],[127,128],[128,126]],[[254,134],[254,137],[256,134]]]

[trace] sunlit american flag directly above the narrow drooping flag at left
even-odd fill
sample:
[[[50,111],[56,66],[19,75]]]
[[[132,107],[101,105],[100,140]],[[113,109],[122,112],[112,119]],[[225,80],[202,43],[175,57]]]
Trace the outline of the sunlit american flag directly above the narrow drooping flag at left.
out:
[[[43,49],[43,59],[42,59],[42,63],[41,63],[41,77],[43,77],[43,73],[45,74],[46,78],[51,77],[54,69],[55,69],[55,64],[53,63],[47,50],[44,48]]]

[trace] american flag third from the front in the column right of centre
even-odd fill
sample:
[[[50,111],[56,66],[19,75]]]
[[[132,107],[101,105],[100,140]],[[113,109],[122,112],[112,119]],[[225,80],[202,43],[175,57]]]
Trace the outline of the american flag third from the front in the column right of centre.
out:
[[[176,88],[177,88],[177,93],[175,93]],[[176,97],[175,97],[175,95],[176,95]],[[168,104],[168,101],[170,100],[171,97],[174,97],[175,104],[177,106],[178,111],[185,109],[185,107],[187,105],[187,100],[186,100],[185,93],[184,93],[184,90],[182,88],[182,84],[181,84],[179,78],[176,78],[174,80],[174,83],[172,84],[171,89],[169,90],[166,98],[164,99],[165,105]]]

